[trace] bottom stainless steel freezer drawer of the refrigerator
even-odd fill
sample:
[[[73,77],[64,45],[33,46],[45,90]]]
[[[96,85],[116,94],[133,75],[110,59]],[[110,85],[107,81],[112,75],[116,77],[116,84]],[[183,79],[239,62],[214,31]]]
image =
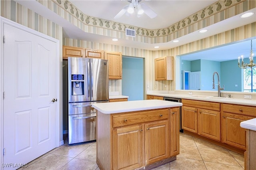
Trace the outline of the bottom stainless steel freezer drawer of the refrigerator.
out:
[[[68,115],[68,144],[96,140],[96,113]]]

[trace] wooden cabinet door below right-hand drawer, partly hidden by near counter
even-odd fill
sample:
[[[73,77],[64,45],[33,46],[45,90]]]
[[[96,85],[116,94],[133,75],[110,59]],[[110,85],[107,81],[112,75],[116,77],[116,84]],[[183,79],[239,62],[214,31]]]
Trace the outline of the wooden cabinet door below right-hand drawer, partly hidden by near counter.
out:
[[[241,116],[233,113],[222,113],[222,142],[246,150],[246,129],[240,127],[242,121],[254,117]]]

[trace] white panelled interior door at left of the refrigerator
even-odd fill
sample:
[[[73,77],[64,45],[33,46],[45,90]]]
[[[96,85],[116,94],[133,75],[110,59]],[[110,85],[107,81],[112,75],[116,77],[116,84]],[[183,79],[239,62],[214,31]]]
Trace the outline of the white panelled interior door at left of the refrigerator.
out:
[[[8,24],[4,35],[4,164],[25,164],[56,148],[56,42]]]

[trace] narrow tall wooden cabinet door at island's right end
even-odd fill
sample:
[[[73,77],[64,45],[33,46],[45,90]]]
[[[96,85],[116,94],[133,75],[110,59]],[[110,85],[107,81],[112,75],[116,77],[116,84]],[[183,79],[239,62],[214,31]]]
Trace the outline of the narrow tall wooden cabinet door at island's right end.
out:
[[[180,108],[170,109],[170,156],[180,154]]]

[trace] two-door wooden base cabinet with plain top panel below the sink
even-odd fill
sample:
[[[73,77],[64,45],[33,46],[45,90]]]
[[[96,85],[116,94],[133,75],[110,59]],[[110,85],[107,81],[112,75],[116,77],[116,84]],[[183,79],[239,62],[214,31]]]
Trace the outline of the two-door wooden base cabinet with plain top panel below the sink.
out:
[[[182,99],[182,129],[220,141],[220,103]]]

